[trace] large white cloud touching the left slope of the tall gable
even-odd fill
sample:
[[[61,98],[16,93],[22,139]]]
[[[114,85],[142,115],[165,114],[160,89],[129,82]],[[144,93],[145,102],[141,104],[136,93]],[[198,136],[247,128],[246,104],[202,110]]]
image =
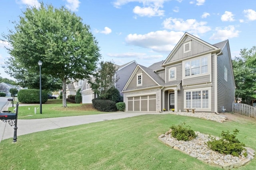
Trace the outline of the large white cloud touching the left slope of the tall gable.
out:
[[[139,47],[150,48],[153,51],[170,53],[184,32],[168,32],[166,30],[149,32],[148,34],[129,34],[126,43]]]

